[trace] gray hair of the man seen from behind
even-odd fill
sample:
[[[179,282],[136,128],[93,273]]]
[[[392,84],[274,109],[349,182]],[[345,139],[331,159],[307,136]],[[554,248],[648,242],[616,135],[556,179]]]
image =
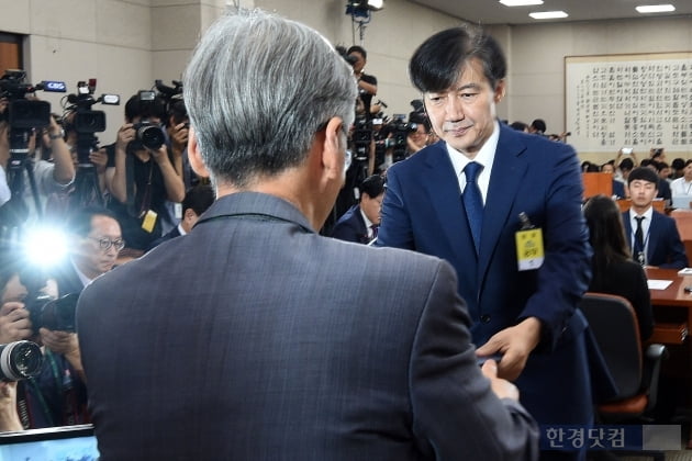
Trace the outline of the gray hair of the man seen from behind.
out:
[[[300,166],[333,116],[353,123],[350,66],[316,31],[260,11],[217,20],[183,77],[185,102],[214,183],[246,188]]]

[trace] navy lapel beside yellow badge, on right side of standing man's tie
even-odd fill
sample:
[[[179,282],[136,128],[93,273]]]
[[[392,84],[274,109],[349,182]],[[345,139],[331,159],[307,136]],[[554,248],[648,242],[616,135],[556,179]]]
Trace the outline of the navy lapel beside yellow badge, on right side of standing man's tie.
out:
[[[479,277],[481,279],[488,270],[502,229],[511,217],[510,211],[526,173],[527,162],[521,157],[525,149],[526,146],[521,138],[515,136],[511,128],[505,128],[501,124],[500,139],[498,140],[483,212],[479,255]],[[482,286],[482,283],[479,286]]]

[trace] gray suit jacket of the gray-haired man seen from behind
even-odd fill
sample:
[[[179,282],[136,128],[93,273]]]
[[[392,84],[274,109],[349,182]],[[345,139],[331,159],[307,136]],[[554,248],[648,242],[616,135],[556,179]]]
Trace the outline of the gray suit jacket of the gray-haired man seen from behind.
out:
[[[520,460],[451,267],[317,235],[277,198],[87,286],[78,331],[101,460]]]

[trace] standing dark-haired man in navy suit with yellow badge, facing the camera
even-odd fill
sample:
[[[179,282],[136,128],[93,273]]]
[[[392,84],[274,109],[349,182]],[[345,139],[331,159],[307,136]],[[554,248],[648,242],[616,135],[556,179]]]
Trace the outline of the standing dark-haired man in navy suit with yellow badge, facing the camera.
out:
[[[378,245],[451,262],[478,353],[502,356],[499,373],[540,424],[590,424],[587,323],[576,310],[590,248],[574,150],[498,122],[506,65],[483,31],[433,35],[409,70],[443,142],[388,171]]]

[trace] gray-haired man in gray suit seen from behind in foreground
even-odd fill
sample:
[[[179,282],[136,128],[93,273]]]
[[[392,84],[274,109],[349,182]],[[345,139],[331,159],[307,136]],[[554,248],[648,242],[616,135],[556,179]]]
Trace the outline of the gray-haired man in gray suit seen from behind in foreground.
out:
[[[315,232],[357,94],[328,42],[225,16],[183,80],[190,162],[217,199],[82,292],[102,460],[533,458],[536,427],[478,366],[451,267]]]

